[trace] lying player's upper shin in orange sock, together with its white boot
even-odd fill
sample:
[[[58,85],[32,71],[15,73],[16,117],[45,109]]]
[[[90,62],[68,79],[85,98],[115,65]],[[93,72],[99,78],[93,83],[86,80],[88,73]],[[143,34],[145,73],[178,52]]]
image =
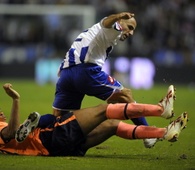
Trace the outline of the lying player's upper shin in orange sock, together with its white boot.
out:
[[[142,116],[162,116],[168,119],[174,116],[173,104],[175,98],[175,90],[171,85],[166,96],[157,105],[139,103],[110,104],[106,114],[111,119],[132,119]],[[117,114],[114,112],[117,112]]]

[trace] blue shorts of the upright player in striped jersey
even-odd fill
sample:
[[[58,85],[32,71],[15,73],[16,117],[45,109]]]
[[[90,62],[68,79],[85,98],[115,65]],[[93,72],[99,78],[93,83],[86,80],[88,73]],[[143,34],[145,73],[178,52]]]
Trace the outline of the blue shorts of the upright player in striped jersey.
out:
[[[85,95],[107,100],[122,85],[95,64],[78,64],[62,69],[56,84],[53,107],[60,110],[80,109]]]

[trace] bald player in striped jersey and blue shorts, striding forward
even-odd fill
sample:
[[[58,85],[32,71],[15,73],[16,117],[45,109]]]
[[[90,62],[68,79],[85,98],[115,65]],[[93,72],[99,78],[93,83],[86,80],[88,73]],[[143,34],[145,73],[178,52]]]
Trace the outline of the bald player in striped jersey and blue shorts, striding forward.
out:
[[[80,33],[65,55],[59,68],[53,114],[80,109],[85,95],[107,103],[135,102],[130,89],[102,71],[107,57],[119,41],[132,36],[137,26],[134,14],[122,12],[103,18]],[[136,125],[148,125],[144,117],[132,119]],[[147,148],[156,139],[145,139]]]

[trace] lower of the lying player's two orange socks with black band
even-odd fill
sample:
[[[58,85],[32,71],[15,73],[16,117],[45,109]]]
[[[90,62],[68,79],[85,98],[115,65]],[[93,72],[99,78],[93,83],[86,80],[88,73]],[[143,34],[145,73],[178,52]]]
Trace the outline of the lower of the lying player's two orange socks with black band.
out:
[[[116,135],[124,139],[163,138],[166,128],[152,126],[136,126],[120,122]]]

